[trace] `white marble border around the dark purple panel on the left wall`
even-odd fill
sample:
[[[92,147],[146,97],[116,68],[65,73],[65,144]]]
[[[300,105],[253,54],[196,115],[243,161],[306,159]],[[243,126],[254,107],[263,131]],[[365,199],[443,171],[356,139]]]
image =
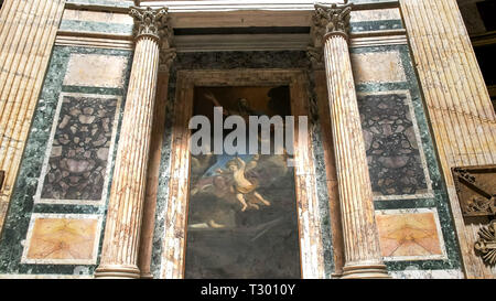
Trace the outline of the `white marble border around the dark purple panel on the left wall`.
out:
[[[58,127],[58,119],[61,115],[61,108],[65,96],[71,97],[86,97],[86,98],[100,98],[100,99],[108,99],[108,98],[117,98],[116,104],[116,112],[112,121],[112,135],[110,140],[110,148],[108,151],[108,159],[107,159],[107,166],[106,166],[106,176],[104,182],[104,189],[101,191],[101,197],[100,200],[55,200],[55,198],[42,198],[42,191],[43,191],[43,184],[46,176],[46,173],[48,172],[48,162],[50,162],[50,154],[52,153],[52,147],[53,147],[53,140],[55,138],[55,132]],[[91,205],[91,206],[101,206],[106,204],[107,193],[108,193],[108,185],[110,181],[110,172],[111,172],[111,163],[114,159],[114,149],[116,148],[116,137],[117,137],[117,128],[119,122],[119,116],[120,116],[120,107],[122,104],[122,96],[118,95],[99,95],[99,94],[82,94],[82,93],[61,93],[61,96],[58,98],[57,108],[55,111],[55,116],[52,123],[52,131],[50,132],[50,139],[48,139],[48,146],[46,148],[45,152],[45,159],[43,160],[42,165],[42,172],[37,181],[37,187],[36,187],[36,194],[34,195],[34,204],[67,204],[67,205]]]

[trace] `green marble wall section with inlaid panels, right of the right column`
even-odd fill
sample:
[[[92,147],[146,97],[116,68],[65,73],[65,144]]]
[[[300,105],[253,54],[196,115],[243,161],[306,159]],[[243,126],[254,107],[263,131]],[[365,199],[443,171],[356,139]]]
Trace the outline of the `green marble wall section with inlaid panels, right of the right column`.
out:
[[[352,62],[388,270],[395,278],[462,278],[446,187],[408,46],[352,49]]]

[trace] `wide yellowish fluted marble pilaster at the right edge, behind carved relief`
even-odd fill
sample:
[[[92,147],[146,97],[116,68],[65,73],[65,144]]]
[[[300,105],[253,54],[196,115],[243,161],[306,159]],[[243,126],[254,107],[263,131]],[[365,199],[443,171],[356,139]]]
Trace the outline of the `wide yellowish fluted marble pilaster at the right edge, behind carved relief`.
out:
[[[467,278],[494,278],[474,244],[485,225],[465,218],[452,168],[496,164],[496,114],[455,0],[400,0],[446,181]]]

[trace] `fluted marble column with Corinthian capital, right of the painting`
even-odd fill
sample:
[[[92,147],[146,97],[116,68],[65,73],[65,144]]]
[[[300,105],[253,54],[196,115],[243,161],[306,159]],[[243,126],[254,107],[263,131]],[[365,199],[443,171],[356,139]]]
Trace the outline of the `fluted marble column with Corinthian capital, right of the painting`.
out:
[[[388,278],[379,248],[374,203],[348,50],[353,4],[315,6],[321,30],[342,209],[342,278]],[[316,34],[316,32],[314,32]]]

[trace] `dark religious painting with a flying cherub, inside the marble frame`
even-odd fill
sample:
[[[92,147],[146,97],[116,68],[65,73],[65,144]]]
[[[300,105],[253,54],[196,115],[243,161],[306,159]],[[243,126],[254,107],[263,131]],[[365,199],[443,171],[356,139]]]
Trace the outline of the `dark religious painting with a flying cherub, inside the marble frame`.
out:
[[[230,116],[246,120],[247,150],[218,153],[212,147],[191,157],[185,278],[300,278],[290,152],[285,147],[276,151],[274,126],[266,136],[248,130],[250,116],[291,116],[289,86],[196,87],[193,116],[205,116],[214,125],[215,107],[222,107],[223,122]],[[236,126],[223,129],[223,137],[234,130]],[[213,127],[211,137],[214,144]],[[260,142],[256,153],[248,150],[250,137]],[[260,151],[267,138],[268,153]]]

